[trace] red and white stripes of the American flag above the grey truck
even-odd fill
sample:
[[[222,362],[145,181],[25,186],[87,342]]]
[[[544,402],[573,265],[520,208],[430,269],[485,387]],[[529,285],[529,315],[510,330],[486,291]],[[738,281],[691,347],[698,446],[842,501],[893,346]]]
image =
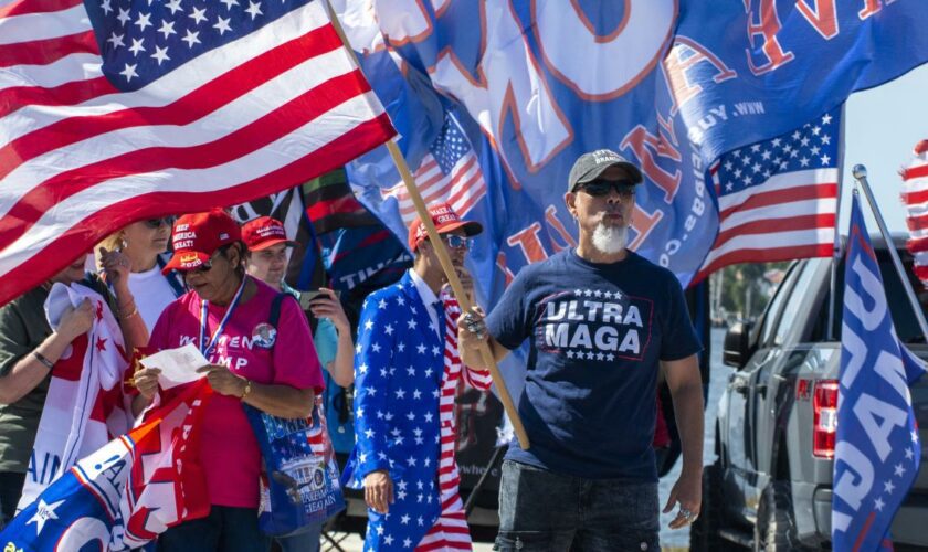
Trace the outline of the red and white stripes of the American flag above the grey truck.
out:
[[[711,170],[715,184],[720,182]],[[837,169],[776,174],[718,200],[719,232],[694,282],[734,263],[826,257],[834,246]]]

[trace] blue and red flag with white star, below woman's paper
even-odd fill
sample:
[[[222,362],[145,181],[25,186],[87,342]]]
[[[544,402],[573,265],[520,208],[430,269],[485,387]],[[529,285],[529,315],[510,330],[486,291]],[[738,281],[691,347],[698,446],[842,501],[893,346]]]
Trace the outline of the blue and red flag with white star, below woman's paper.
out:
[[[205,379],[78,460],[0,530],[4,552],[146,550],[169,527],[210,512],[200,463]]]

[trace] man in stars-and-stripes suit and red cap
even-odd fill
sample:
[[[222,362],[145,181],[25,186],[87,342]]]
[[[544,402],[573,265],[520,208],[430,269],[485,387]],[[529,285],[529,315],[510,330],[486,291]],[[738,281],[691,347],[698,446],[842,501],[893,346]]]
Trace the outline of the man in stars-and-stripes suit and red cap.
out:
[[[447,204],[430,209],[452,263],[462,267],[471,236],[483,231]],[[355,357],[355,434],[348,486],[365,489],[365,550],[471,550],[454,464],[454,390],[481,389],[489,373],[462,369],[457,302],[425,229],[409,233],[413,268],[365,301]]]

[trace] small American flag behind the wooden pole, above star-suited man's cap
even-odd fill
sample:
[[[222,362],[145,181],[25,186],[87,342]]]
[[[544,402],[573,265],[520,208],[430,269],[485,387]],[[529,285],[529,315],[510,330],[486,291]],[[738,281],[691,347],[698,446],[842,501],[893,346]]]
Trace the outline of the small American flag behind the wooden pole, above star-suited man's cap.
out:
[[[460,216],[466,215],[486,195],[479,160],[457,119],[449,112],[445,112],[439,137],[432,142],[414,177],[426,205],[449,203]],[[415,205],[402,182],[381,193],[384,199],[397,198],[400,215],[407,225],[416,217]]]

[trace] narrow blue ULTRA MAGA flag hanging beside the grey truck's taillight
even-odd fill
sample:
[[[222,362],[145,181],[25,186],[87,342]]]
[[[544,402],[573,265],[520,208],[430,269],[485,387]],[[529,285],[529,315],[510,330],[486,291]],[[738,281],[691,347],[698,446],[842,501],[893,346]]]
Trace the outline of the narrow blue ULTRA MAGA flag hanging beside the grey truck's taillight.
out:
[[[889,526],[921,463],[909,385],[925,364],[896,336],[856,193],[844,286],[832,546],[892,550]]]

